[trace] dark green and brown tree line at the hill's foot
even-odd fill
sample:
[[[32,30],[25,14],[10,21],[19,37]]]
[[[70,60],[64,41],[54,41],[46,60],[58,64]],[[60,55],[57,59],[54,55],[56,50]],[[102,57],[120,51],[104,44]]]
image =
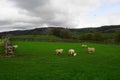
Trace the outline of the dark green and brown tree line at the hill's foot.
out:
[[[70,31],[70,29],[65,29],[65,28],[62,29],[49,28],[46,34],[58,36],[64,39],[79,39],[84,41],[100,41],[100,42],[111,40],[120,43],[120,31],[114,33],[115,36],[113,38],[108,38],[107,36],[104,35],[104,33],[101,32],[76,34]]]

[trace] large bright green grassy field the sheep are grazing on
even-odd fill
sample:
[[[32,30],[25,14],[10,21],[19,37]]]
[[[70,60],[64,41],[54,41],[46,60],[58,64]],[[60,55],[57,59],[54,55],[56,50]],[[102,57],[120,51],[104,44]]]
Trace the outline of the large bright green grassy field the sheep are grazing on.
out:
[[[120,45],[87,43],[12,42],[19,47],[14,58],[0,57],[0,80],[120,80]],[[63,48],[62,55],[55,49]],[[77,56],[69,56],[68,49]]]

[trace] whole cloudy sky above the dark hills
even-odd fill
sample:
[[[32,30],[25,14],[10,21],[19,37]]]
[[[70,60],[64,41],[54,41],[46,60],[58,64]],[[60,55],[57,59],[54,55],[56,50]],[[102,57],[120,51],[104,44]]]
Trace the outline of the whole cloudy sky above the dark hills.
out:
[[[0,32],[120,24],[120,0],[0,0]]]

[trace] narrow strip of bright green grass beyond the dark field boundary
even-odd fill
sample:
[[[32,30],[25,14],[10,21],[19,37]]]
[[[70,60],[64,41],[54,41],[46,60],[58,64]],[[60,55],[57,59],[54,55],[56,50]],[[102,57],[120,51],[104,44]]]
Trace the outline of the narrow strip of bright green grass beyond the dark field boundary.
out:
[[[12,36],[11,38],[60,39],[59,37],[50,36],[50,35],[21,35],[21,36]]]

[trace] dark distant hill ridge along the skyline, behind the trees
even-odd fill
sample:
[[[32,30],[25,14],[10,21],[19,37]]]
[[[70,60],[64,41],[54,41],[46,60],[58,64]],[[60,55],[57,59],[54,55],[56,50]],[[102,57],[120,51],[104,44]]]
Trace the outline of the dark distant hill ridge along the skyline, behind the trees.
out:
[[[54,28],[54,27],[50,27]],[[57,28],[57,27],[56,27]],[[32,34],[40,34],[45,35],[49,28],[36,28],[32,30],[17,30],[17,31],[9,31],[9,32],[1,32],[0,35],[32,35]],[[63,29],[61,27],[57,29]],[[102,32],[102,33],[112,33],[120,30],[120,25],[111,25],[111,26],[102,26],[98,28],[80,28],[80,29],[70,29],[70,31],[74,33],[94,33],[94,32]]]

